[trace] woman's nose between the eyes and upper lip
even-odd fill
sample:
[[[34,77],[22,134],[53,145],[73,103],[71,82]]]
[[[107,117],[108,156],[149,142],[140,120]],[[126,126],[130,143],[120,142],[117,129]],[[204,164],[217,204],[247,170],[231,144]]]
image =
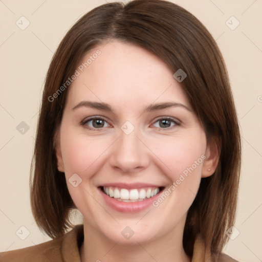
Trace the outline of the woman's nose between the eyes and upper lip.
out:
[[[138,173],[149,165],[149,150],[138,135],[136,128],[128,135],[120,130],[113,145],[110,164],[122,174]]]

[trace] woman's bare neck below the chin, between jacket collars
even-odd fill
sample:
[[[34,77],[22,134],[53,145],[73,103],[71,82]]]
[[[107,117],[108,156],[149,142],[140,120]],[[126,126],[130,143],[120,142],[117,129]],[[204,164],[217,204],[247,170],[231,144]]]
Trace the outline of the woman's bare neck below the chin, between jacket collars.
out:
[[[180,230],[177,230],[179,228]],[[146,243],[132,245],[113,242],[84,221],[84,241],[80,248],[81,262],[190,262],[183,249],[183,227],[178,225],[169,233]]]

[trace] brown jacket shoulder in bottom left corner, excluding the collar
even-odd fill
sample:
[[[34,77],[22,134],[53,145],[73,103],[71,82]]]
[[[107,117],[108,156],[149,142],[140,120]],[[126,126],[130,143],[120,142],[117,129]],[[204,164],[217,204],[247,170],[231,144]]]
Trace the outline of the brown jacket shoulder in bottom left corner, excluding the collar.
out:
[[[60,246],[62,238],[56,238],[51,241],[41,243],[38,245],[11,250],[0,253],[1,262],[13,261],[57,261],[62,262],[60,254]]]

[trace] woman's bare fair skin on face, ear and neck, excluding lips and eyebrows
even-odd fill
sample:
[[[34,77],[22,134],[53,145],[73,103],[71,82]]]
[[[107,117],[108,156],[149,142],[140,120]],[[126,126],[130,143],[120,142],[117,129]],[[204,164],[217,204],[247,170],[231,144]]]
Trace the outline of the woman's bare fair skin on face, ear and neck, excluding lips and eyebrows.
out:
[[[57,130],[58,169],[65,172],[71,197],[83,214],[81,261],[190,261],[182,245],[186,215],[201,178],[215,171],[215,143],[207,143],[181,84],[156,55],[114,40],[97,46],[80,64],[97,49],[101,54],[70,86]],[[107,103],[114,113],[87,106],[72,109],[83,100]],[[161,102],[188,109],[144,112],[149,104]],[[86,122],[93,116],[105,119],[100,128]],[[179,124],[171,121],[163,127],[158,120],[166,117]],[[121,129],[126,121],[135,127],[129,135]],[[203,155],[205,160],[158,207],[122,213],[106,205],[97,188],[110,182],[168,188]],[[77,187],[69,183],[74,173],[82,179]],[[126,226],[134,231],[129,239],[121,234]]]

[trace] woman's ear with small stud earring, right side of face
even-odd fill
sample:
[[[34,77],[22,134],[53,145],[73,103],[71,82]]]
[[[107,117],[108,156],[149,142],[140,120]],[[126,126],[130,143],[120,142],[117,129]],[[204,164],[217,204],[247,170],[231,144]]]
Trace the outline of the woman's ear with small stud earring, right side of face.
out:
[[[220,158],[219,145],[215,139],[210,139],[207,143],[206,158],[202,166],[202,178],[210,177],[217,167]]]

